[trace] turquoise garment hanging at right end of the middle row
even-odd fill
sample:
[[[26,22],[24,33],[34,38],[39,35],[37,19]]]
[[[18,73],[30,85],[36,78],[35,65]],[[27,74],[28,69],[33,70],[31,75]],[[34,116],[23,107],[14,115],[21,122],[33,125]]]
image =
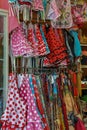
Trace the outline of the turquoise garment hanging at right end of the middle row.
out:
[[[74,53],[76,57],[81,56],[82,50],[80,46],[80,41],[78,38],[78,33],[75,30],[70,30],[70,34],[74,38]]]

